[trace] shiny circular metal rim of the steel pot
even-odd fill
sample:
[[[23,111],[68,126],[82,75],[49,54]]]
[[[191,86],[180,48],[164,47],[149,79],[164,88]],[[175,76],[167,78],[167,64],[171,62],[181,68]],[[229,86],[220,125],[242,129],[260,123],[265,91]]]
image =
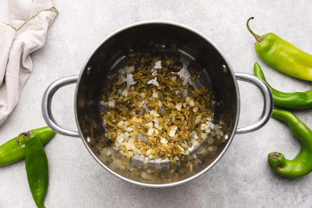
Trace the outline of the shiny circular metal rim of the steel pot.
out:
[[[236,106],[236,119],[235,119],[235,124],[233,127],[233,132],[230,138],[228,138],[228,142],[225,146],[225,148],[222,150],[222,152],[218,155],[218,157],[209,165],[207,166],[205,169],[203,169],[201,172],[198,172],[197,174],[193,175],[192,177],[189,177],[187,179],[181,180],[181,181],[177,181],[177,182],[173,182],[173,183],[168,183],[168,184],[150,184],[150,183],[142,183],[142,182],[137,182],[137,181],[133,181],[131,179],[128,179],[126,177],[123,177],[121,175],[119,175],[118,173],[114,172],[113,170],[111,170],[109,167],[107,167],[104,163],[102,163],[98,157],[96,157],[96,155],[92,152],[92,150],[89,148],[87,142],[85,141],[85,139],[82,136],[82,131],[80,129],[80,125],[78,122],[78,115],[77,115],[77,92],[78,92],[78,87],[79,87],[79,83],[80,83],[80,79],[81,76],[83,74],[83,72],[86,70],[86,65],[89,62],[90,58],[94,55],[95,51],[107,40],[109,40],[111,37],[115,36],[116,34],[118,34],[121,31],[124,31],[126,29],[129,29],[131,27],[137,27],[140,25],[146,25],[146,24],[167,24],[167,25],[173,25],[173,26],[177,26],[177,27],[182,27],[183,29],[189,30],[195,34],[197,34],[198,36],[201,36],[203,39],[205,39],[207,42],[209,42],[217,51],[218,53],[222,56],[222,58],[225,60],[229,71],[231,72],[232,78],[234,80],[234,84],[235,84],[235,89],[236,89],[236,101],[237,101],[237,106]],[[98,46],[92,51],[92,53],[90,54],[90,56],[86,59],[84,65],[82,66],[82,70],[80,71],[79,74],[79,78],[77,80],[77,84],[76,84],[76,89],[75,89],[75,102],[74,102],[74,109],[75,109],[75,120],[76,120],[76,124],[77,124],[77,128],[78,128],[78,132],[80,133],[80,137],[85,145],[85,147],[87,148],[88,152],[92,155],[92,157],[100,164],[100,166],[102,166],[103,168],[105,168],[108,172],[112,173],[113,175],[115,175],[116,177],[127,181],[129,183],[135,184],[135,185],[139,185],[139,186],[144,186],[144,187],[150,187],[150,188],[161,188],[161,187],[171,187],[171,186],[177,186],[177,185],[181,185],[183,183],[186,183],[188,181],[193,180],[196,177],[201,176],[202,174],[204,174],[205,172],[207,172],[208,170],[210,170],[214,165],[217,164],[217,162],[223,157],[223,155],[225,154],[225,152],[227,151],[227,149],[229,148],[229,146],[232,143],[232,140],[234,138],[234,135],[236,133],[236,129],[237,129],[237,125],[238,125],[238,120],[239,120],[239,114],[240,114],[240,93],[239,93],[239,88],[238,88],[238,84],[237,84],[237,79],[235,77],[235,73],[234,70],[232,68],[232,65],[230,64],[230,62],[227,60],[226,56],[222,53],[222,51],[204,34],[202,34],[201,32],[183,25],[181,23],[178,22],[173,22],[173,21],[166,21],[166,20],[148,20],[148,21],[141,21],[141,22],[135,22],[132,24],[129,24],[127,26],[124,26],[114,32],[112,32],[109,36],[107,36],[103,41],[101,41]]]

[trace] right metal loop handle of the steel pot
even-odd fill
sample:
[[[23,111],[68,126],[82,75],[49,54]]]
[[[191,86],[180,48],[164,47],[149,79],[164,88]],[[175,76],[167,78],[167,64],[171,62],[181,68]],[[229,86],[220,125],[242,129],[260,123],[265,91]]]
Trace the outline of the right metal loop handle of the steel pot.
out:
[[[271,118],[273,111],[273,98],[270,88],[266,85],[264,81],[259,79],[256,76],[244,74],[244,73],[235,73],[236,79],[249,82],[253,85],[256,85],[260,90],[264,99],[263,111],[260,118],[250,126],[241,127],[236,129],[236,133],[248,133],[256,131],[262,128]]]

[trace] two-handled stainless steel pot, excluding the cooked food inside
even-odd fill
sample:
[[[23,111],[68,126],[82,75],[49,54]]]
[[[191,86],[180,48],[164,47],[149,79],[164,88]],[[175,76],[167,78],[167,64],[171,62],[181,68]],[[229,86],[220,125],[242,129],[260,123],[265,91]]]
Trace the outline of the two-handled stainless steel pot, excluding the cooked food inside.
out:
[[[97,143],[105,138],[105,128],[100,112],[101,90],[105,85],[107,72],[116,71],[125,65],[125,54],[129,47],[140,49],[153,43],[161,50],[175,45],[181,53],[185,68],[192,60],[203,66],[197,85],[208,85],[215,92],[219,103],[214,109],[215,121],[222,119],[226,126],[223,143],[215,145],[202,142],[191,150],[186,161],[150,161],[144,164],[119,155],[110,147],[102,150]],[[183,71],[182,70],[182,71]],[[187,76],[187,75],[185,75]],[[264,109],[256,123],[237,128],[240,113],[240,93],[237,80],[256,85],[264,98]],[[78,132],[60,127],[52,116],[51,100],[56,90],[76,83],[75,116]],[[108,36],[86,60],[80,75],[65,77],[53,82],[42,101],[42,114],[46,123],[57,133],[81,137],[85,147],[95,160],[107,171],[133,184],[147,187],[168,187],[182,184],[207,172],[214,166],[230,146],[235,133],[248,133],[261,128],[270,119],[273,108],[272,96],[267,85],[257,77],[234,73],[232,66],[220,49],[202,33],[182,24],[168,21],[138,22]],[[109,146],[110,143],[107,142]]]

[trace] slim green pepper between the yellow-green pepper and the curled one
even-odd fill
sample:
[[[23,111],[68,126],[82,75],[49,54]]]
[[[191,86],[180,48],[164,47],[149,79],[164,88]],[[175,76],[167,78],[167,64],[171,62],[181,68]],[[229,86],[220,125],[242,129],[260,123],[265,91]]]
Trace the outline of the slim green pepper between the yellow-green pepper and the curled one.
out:
[[[304,109],[312,107],[312,90],[306,92],[285,93],[272,88],[269,83],[267,83],[266,77],[257,62],[254,65],[254,74],[269,86],[275,105],[291,109]]]

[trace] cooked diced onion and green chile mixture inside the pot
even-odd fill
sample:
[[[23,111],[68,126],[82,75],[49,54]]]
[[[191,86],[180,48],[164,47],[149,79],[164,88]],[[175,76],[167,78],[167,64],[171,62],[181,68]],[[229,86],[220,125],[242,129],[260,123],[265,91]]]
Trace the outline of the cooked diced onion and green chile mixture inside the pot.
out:
[[[188,147],[198,147],[202,139],[222,138],[220,125],[211,122],[212,91],[184,82],[177,74],[183,64],[176,52],[144,50],[129,53],[128,58],[127,69],[108,75],[101,101],[115,150],[128,158],[175,161],[183,160],[190,153]],[[161,68],[155,69],[158,61]],[[193,81],[197,67],[195,62],[188,67]],[[127,76],[133,76],[134,85],[127,86]],[[155,79],[158,85],[151,83]]]

